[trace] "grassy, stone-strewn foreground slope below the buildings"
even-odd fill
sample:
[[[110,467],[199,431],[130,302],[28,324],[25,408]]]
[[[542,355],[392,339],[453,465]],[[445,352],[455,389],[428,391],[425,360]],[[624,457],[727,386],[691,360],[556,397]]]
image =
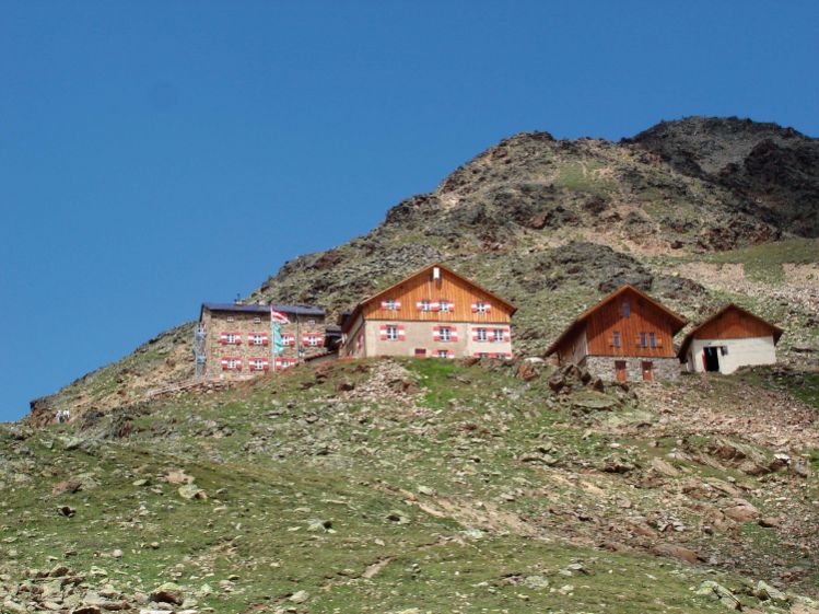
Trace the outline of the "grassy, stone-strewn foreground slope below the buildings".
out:
[[[819,394],[781,378],[385,359],[4,426],[0,604],[816,614]]]

